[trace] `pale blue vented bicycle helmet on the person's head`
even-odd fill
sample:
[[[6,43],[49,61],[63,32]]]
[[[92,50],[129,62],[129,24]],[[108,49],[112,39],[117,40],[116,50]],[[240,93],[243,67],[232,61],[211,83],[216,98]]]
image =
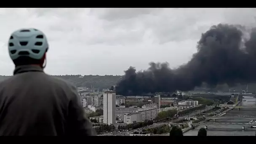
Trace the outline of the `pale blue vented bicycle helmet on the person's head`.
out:
[[[42,59],[48,50],[48,42],[43,32],[37,29],[19,29],[11,34],[8,50],[12,60],[20,56]]]

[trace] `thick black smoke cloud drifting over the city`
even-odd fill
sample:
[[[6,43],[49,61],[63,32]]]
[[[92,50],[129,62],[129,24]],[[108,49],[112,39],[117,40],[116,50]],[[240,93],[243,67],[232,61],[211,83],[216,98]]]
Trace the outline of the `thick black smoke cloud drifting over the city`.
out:
[[[250,31],[250,32],[249,32]],[[256,82],[256,30],[219,24],[202,34],[197,53],[178,69],[151,62],[147,70],[125,71],[116,91],[122,95],[189,91],[203,82],[215,86]]]

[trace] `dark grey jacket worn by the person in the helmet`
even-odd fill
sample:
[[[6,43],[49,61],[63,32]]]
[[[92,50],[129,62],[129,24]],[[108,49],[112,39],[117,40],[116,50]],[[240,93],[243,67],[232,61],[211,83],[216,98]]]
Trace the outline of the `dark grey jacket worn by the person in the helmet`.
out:
[[[76,88],[35,65],[0,83],[0,136],[95,135]]]

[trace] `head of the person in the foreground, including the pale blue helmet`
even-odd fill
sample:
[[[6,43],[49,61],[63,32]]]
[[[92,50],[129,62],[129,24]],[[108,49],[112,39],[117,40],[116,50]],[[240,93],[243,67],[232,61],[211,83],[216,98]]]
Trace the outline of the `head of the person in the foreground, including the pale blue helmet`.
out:
[[[8,50],[16,67],[39,65],[44,68],[48,42],[44,33],[38,29],[19,29],[11,34]]]

